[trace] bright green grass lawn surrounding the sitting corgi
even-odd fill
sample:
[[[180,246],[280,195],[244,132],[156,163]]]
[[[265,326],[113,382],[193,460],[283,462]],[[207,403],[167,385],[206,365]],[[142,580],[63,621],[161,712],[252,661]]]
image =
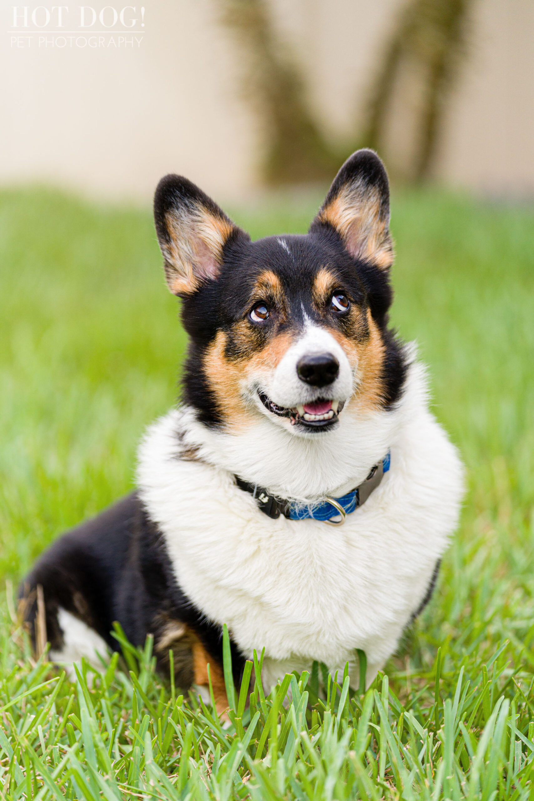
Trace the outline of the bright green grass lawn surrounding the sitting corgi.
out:
[[[313,198],[235,217],[303,231]],[[417,339],[468,496],[430,608],[365,696],[287,678],[231,725],[125,643],[76,682],[0,609],[0,798],[534,801],[534,211],[393,199],[393,320]],[[186,342],[149,213],[0,194],[0,574],[132,485]],[[253,670],[253,675],[255,671]],[[291,682],[288,685],[288,682]],[[287,689],[290,697],[284,696]]]

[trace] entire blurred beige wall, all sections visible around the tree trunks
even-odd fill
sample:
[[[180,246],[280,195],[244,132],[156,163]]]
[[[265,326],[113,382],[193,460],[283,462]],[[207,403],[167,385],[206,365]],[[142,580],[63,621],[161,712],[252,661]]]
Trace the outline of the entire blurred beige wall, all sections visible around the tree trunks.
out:
[[[305,66],[318,119],[345,139],[402,0],[270,2]],[[12,47],[12,34],[2,33],[0,182],[46,180],[143,203],[168,171],[221,199],[257,186],[260,132],[240,97],[239,51],[217,22],[216,0],[144,7],[146,33],[135,49],[39,47],[46,29],[31,31],[29,48]],[[2,0],[6,31],[11,8]],[[68,30],[76,30],[78,6],[69,8]],[[473,30],[436,175],[494,195],[534,195],[534,3],[478,0]]]

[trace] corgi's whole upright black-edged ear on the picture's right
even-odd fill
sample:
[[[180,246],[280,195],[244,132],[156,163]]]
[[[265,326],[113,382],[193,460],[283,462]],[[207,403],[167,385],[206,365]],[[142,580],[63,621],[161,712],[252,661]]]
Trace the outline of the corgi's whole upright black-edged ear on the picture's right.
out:
[[[354,259],[381,270],[391,267],[389,183],[383,163],[374,151],[356,151],[343,164],[311,223],[310,232],[320,231],[324,226],[335,228]]]

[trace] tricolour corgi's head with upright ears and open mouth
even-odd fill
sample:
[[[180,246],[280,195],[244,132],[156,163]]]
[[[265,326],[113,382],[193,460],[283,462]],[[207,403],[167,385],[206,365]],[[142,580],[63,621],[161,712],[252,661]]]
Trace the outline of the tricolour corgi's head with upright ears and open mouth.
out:
[[[307,235],[251,242],[177,175],[159,183],[155,224],[199,420],[235,429],[263,415],[315,437],[395,402],[404,362],[387,329],[389,187],[374,152],[343,164]]]

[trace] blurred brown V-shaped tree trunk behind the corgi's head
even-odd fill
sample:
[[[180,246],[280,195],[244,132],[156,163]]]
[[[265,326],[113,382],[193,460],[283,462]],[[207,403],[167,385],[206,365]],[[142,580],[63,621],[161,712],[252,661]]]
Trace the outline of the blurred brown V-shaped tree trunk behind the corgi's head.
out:
[[[223,23],[235,32],[245,56],[243,83],[265,136],[267,183],[330,178],[354,143],[379,151],[401,179],[428,178],[467,50],[473,0],[408,0],[371,83],[363,123],[343,151],[327,141],[315,122],[303,75],[279,42],[267,0],[218,2]],[[402,154],[395,118],[395,103],[408,108],[404,95],[412,95],[408,156]]]

